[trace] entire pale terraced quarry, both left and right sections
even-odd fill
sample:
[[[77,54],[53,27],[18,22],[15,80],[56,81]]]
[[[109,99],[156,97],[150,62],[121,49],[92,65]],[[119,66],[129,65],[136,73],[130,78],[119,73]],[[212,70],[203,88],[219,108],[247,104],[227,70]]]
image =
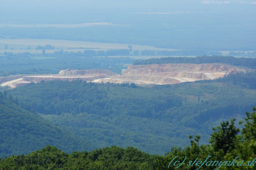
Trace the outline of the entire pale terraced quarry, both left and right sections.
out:
[[[0,78],[1,86],[15,88],[30,82],[50,80],[83,80],[97,83],[135,83],[135,84],[176,84],[196,80],[212,80],[237,72],[252,71],[249,68],[227,64],[150,64],[131,65],[118,75],[109,70],[61,70],[58,75],[19,75]]]

